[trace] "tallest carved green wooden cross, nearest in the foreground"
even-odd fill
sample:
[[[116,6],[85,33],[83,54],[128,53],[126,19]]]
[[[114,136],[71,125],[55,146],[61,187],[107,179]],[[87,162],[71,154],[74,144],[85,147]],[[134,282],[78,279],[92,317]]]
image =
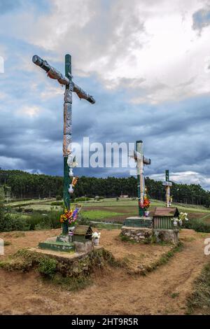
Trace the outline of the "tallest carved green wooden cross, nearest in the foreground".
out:
[[[91,104],[95,103],[95,100],[90,94],[87,94],[76,83],[73,83],[71,76],[71,55],[65,56],[65,76],[57,71],[54,67],[50,66],[48,62],[41,59],[37,55],[32,58],[34,64],[43,69],[49,78],[57,80],[61,85],[65,85],[66,90],[64,92],[64,138],[63,138],[63,156],[64,156],[64,206],[66,209],[70,209],[70,193],[73,193],[73,186],[76,184],[77,177],[73,177],[73,168],[76,167],[76,158],[72,154],[71,150],[71,121],[72,121],[72,92],[76,92],[80,99],[86,99]],[[69,177],[71,183],[69,184]],[[63,234],[64,232],[63,226]]]

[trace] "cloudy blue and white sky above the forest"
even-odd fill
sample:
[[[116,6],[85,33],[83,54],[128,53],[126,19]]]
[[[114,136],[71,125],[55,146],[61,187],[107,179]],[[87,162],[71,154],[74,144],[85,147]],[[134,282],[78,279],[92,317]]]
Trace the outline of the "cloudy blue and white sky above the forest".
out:
[[[73,94],[73,141],[144,141],[145,174],[210,189],[210,0],[0,0],[0,167],[62,175],[64,87],[48,60],[96,99]],[[78,168],[129,176],[130,168]]]

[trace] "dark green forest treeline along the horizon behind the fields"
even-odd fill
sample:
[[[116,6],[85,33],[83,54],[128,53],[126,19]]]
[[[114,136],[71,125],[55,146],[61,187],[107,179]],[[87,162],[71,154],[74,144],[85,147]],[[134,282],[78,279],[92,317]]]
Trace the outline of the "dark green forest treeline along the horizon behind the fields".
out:
[[[60,176],[29,174],[20,170],[0,170],[0,185],[12,198],[62,197],[63,179]],[[165,200],[165,187],[161,181],[146,177],[148,195],[156,200]],[[105,179],[81,176],[74,189],[73,198],[87,197],[119,197],[121,194],[137,197],[137,179],[107,177]],[[174,202],[200,204],[210,206],[210,192],[196,184],[173,183],[171,194]]]

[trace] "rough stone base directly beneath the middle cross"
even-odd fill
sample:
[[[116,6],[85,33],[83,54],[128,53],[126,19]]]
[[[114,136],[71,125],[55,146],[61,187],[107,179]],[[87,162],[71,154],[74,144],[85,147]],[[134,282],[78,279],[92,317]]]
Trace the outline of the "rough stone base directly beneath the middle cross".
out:
[[[121,228],[120,235],[128,237],[132,241],[141,242],[146,239],[151,239],[153,230],[151,228],[134,228],[123,226],[123,228]]]

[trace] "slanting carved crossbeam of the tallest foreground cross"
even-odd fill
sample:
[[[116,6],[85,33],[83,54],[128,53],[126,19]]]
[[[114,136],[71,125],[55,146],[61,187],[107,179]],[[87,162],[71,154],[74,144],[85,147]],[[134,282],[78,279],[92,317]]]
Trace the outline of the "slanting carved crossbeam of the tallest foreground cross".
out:
[[[45,61],[44,59],[42,59],[38,55],[34,55],[32,58],[32,61],[34,62],[34,64],[40,66],[41,69],[43,69],[45,72],[47,72],[49,78],[56,79],[61,85],[70,85],[70,84],[73,85],[73,88],[72,88],[73,92],[76,92],[76,94],[78,95],[78,97],[80,99],[81,98],[86,99],[86,101],[90,102],[91,104],[95,103],[94,98],[90,94],[87,94],[87,92],[85,92],[82,88],[80,88],[78,85],[76,85],[76,83],[73,83],[71,80],[69,80],[69,78],[64,76],[59,71],[57,71],[57,69],[55,69],[50,64],[48,64],[48,62]],[[69,74],[69,76],[71,76],[71,75]]]

